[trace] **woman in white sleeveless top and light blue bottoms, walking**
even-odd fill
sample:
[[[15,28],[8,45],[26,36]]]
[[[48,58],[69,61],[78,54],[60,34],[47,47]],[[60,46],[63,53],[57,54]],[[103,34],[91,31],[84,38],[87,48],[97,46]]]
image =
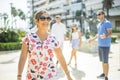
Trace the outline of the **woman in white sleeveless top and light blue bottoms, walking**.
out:
[[[76,58],[76,50],[81,47],[82,44],[82,35],[81,32],[78,31],[78,27],[76,23],[73,23],[72,34],[71,34],[71,42],[72,42],[72,52],[68,65],[71,63],[72,58],[75,59],[75,67],[77,67],[77,58]]]

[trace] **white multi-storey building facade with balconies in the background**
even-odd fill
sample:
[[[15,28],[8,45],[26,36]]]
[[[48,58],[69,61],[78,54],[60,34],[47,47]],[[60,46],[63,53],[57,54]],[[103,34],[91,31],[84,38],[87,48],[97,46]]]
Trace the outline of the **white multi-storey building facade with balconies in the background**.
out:
[[[119,3],[120,0],[114,0],[114,5],[110,9],[109,15],[113,28],[120,30]],[[33,14],[38,10],[46,9],[51,14],[53,21],[55,15],[61,15],[61,18],[65,21],[67,27],[71,26],[72,22],[78,22],[76,19],[76,11],[85,11],[86,17],[81,19],[82,17],[80,16],[79,18],[82,21],[81,23],[83,23],[80,25],[82,25],[82,27],[86,27],[86,25],[84,25],[84,21],[86,20],[86,22],[88,22],[88,20],[96,18],[96,16],[94,16],[96,11],[103,8],[102,0],[28,0],[28,7],[28,17],[34,16]]]

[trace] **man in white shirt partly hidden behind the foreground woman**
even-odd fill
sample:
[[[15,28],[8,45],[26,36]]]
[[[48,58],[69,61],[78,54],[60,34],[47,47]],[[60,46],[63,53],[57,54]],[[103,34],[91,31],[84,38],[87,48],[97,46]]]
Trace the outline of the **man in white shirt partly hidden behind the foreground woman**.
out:
[[[60,48],[63,49],[63,43],[66,39],[66,26],[61,22],[61,16],[56,15],[56,22],[52,25],[51,33],[60,43]],[[56,62],[56,65],[58,61]]]

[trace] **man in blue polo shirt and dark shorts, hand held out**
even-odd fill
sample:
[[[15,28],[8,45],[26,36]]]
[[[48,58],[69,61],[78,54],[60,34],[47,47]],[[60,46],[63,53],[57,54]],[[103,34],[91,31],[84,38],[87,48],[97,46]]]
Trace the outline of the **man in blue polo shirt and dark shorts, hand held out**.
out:
[[[100,21],[100,23],[97,25],[98,34],[88,42],[91,43],[98,38],[98,52],[100,61],[102,62],[103,73],[100,76],[97,76],[97,78],[104,78],[105,80],[108,80],[108,57],[111,45],[112,24],[110,21],[105,19],[105,13],[103,10],[97,11],[97,18]]]

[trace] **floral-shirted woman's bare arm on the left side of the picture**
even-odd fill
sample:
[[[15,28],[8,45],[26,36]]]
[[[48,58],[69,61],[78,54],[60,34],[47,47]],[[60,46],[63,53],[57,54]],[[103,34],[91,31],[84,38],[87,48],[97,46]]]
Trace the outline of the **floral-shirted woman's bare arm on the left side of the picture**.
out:
[[[20,55],[20,59],[19,59],[19,63],[18,63],[18,80],[21,80],[21,75],[23,72],[23,68],[27,59],[27,44],[25,44],[24,42],[22,43],[22,50],[21,50],[21,55]]]

